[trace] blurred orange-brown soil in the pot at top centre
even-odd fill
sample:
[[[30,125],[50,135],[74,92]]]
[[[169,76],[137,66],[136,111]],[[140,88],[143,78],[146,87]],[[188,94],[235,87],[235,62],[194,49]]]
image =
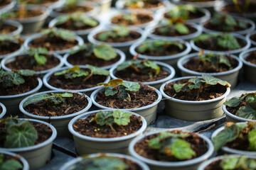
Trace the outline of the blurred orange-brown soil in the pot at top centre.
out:
[[[153,21],[153,17],[150,14],[147,13],[134,13],[132,15],[135,15],[135,20],[125,20],[124,15],[120,14],[118,16],[114,16],[111,19],[112,23],[124,25],[124,26],[131,26],[131,25],[139,25],[142,23],[149,23],[150,21]]]

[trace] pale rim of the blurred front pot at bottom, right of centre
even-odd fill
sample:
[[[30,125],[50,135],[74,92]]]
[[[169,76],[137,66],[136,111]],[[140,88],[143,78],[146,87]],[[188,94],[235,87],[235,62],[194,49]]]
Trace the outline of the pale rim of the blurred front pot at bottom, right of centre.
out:
[[[146,136],[154,135],[156,133],[165,132],[165,131],[169,131],[169,130],[158,130],[156,132],[148,132],[148,133],[146,133],[146,135],[143,134],[143,135],[140,135],[139,137],[135,137],[134,140],[132,140],[132,142],[130,142],[130,144],[129,144],[129,154],[131,154],[133,157],[135,157],[139,160],[142,160],[142,162],[145,162],[146,164],[153,165],[153,166],[182,167],[182,166],[191,166],[193,164],[198,164],[200,162],[203,162],[203,160],[208,159],[208,157],[210,157],[214,152],[213,143],[208,139],[208,137],[205,137],[201,134],[197,134],[197,135],[199,137],[201,137],[203,140],[206,141],[206,143],[208,145],[208,150],[205,154],[201,155],[200,157],[196,157],[194,159],[181,161],[181,162],[160,162],[160,161],[156,161],[156,160],[153,160],[153,159],[147,159],[145,157],[142,157],[139,154],[137,154],[137,152],[134,151],[134,145],[139,140],[143,140],[143,138],[146,137]]]

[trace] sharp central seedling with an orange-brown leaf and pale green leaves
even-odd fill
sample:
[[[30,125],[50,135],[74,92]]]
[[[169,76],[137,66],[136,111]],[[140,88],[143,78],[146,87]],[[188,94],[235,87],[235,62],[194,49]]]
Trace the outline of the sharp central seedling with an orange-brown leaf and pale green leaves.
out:
[[[129,92],[139,91],[140,85],[133,82],[124,82],[122,79],[112,79],[108,83],[100,83],[98,86],[105,86],[105,96],[117,95],[124,101],[131,101]]]

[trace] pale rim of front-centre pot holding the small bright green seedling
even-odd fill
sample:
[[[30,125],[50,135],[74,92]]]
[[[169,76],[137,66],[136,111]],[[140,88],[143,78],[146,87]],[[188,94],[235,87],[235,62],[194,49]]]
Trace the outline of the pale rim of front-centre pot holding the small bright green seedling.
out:
[[[107,109],[107,110],[97,110],[97,111],[90,111],[87,113],[82,113],[80,115],[77,115],[75,118],[73,118],[72,120],[70,120],[70,123],[68,123],[68,130],[70,131],[70,133],[72,135],[74,135],[75,137],[80,138],[81,140],[90,140],[90,141],[94,141],[94,142],[116,142],[116,141],[122,141],[122,140],[129,140],[132,137],[136,137],[137,135],[141,134],[142,132],[144,132],[144,130],[146,130],[146,120],[145,118],[143,118],[142,115],[139,115],[137,113],[133,113],[130,111],[130,113],[133,113],[134,115],[136,115],[137,117],[142,118],[142,127],[139,128],[139,130],[137,130],[136,132],[126,135],[126,136],[122,136],[122,137],[90,137],[90,136],[86,136],[86,135],[81,135],[79,132],[75,131],[73,129],[73,124],[82,118],[87,118],[87,116],[91,115],[92,113],[98,113],[99,111],[113,111],[111,109]]]

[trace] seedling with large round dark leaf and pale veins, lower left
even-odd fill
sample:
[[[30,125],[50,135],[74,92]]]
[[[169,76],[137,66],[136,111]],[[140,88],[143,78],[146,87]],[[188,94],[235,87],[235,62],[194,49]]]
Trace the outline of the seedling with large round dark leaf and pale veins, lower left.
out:
[[[28,120],[18,120],[17,117],[6,118],[1,120],[0,124],[4,124],[6,130],[4,142],[6,148],[30,147],[35,145],[38,139],[36,129]]]

